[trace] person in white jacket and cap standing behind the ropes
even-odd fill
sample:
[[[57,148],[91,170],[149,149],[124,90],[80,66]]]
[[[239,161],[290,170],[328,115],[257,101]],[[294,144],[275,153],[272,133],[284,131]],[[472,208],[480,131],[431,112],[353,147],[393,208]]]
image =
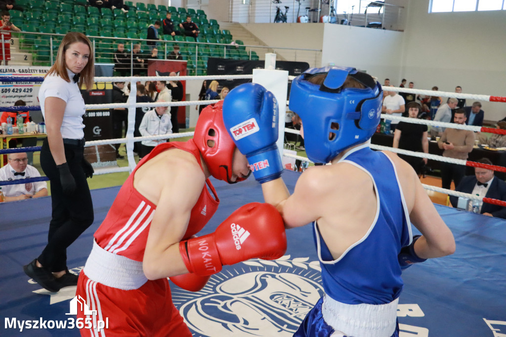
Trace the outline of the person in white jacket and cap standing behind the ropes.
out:
[[[159,102],[166,102],[164,100],[158,100]],[[166,106],[157,106],[151,111],[148,111],[144,114],[142,118],[141,125],[139,126],[139,132],[142,136],[155,136],[155,135],[165,135],[172,134],[172,122],[171,116],[167,114]],[[160,143],[164,143],[166,140],[148,140],[142,141],[141,145],[141,153],[139,156],[142,158],[145,155],[149,154],[151,150],[155,148],[156,145]]]

